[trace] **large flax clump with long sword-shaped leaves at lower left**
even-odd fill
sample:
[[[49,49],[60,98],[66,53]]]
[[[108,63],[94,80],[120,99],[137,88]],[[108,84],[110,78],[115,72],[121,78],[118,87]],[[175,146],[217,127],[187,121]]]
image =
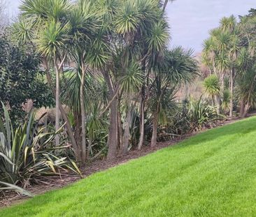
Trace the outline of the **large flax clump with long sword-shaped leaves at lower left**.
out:
[[[45,133],[45,128],[38,128],[32,113],[24,124],[13,128],[4,106],[3,113],[4,121],[0,119],[1,189],[21,191],[45,176],[67,170],[80,174],[76,163],[57,156],[57,149],[66,148],[54,147],[55,135],[59,132]]]

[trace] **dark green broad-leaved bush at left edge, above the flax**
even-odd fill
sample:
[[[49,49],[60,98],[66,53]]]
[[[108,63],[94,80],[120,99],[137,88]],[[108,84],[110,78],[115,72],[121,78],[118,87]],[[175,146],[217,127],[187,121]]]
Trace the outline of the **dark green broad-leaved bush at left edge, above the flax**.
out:
[[[0,100],[8,106],[13,120],[24,117],[22,104],[29,99],[35,107],[52,104],[39,66],[40,59],[35,52],[24,52],[7,36],[0,36]]]

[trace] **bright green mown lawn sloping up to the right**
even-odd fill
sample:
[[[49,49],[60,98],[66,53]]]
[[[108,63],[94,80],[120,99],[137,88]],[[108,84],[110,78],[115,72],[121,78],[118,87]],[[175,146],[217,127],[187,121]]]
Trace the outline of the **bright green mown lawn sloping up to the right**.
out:
[[[256,216],[256,118],[1,209],[0,216]]]

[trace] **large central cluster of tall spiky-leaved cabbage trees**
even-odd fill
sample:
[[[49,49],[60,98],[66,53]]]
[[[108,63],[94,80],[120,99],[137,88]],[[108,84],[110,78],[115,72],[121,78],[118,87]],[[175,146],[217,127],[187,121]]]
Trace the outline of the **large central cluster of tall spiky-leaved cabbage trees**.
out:
[[[197,75],[190,50],[167,48],[167,2],[23,1],[13,36],[41,54],[60,109],[55,128],[60,112],[82,164],[106,147],[111,159],[127,154],[131,144],[141,149],[150,137],[155,146],[157,128],[176,112],[177,89]],[[71,77],[62,73],[66,62],[73,68]]]

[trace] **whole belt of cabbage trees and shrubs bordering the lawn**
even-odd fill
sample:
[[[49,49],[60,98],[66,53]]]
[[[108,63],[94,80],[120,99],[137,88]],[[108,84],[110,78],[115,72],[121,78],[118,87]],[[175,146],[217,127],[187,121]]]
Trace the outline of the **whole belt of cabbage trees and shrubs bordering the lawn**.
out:
[[[6,156],[6,168],[13,160],[22,163],[15,165],[15,178],[4,175],[0,181],[24,186],[27,175],[37,179],[45,170],[67,167],[67,156],[81,166],[97,157],[112,160],[143,145],[155,147],[159,141],[211,128],[228,112],[232,117],[233,107],[239,107],[241,117],[247,114],[256,104],[255,11],[239,22],[225,17],[211,31],[202,54],[208,67],[206,94],[178,97],[181,87],[193,85],[199,63],[192,50],[169,48],[167,3],[22,1],[8,37],[0,39],[0,100],[16,123],[22,104],[33,100],[34,107],[41,107],[34,111],[44,132],[31,126],[30,119],[15,126],[8,149],[19,154],[2,151],[1,156]],[[3,132],[8,131],[6,118]],[[52,133],[53,125],[57,133]],[[16,144],[16,133],[29,137],[29,143]],[[72,150],[55,156],[62,143]],[[43,167],[41,172],[31,169],[35,165]]]

